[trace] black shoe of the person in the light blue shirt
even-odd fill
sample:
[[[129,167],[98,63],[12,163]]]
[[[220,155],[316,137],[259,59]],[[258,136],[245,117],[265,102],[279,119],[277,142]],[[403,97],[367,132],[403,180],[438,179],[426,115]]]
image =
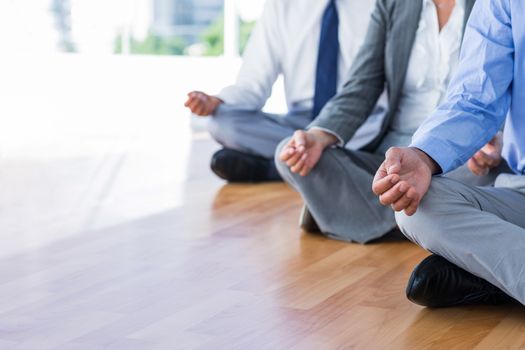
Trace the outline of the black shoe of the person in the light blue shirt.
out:
[[[438,255],[431,255],[416,266],[406,294],[410,301],[428,307],[516,302],[496,286]]]

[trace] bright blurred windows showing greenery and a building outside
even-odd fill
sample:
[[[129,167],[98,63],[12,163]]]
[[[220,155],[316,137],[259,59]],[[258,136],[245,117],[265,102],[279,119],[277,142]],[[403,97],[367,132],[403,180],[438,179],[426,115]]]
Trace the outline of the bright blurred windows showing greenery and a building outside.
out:
[[[263,0],[2,0],[2,50],[235,56]]]

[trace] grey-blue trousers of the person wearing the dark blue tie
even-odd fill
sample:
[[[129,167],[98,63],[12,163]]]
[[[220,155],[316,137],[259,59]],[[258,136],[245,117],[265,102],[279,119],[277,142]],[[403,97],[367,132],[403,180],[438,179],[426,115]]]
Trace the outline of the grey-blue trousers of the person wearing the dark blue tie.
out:
[[[378,106],[347,147],[368,143],[380,130],[385,108]],[[311,110],[292,109],[288,114],[264,113],[231,105],[219,106],[208,122],[211,136],[223,147],[272,159],[279,142],[312,121]]]

